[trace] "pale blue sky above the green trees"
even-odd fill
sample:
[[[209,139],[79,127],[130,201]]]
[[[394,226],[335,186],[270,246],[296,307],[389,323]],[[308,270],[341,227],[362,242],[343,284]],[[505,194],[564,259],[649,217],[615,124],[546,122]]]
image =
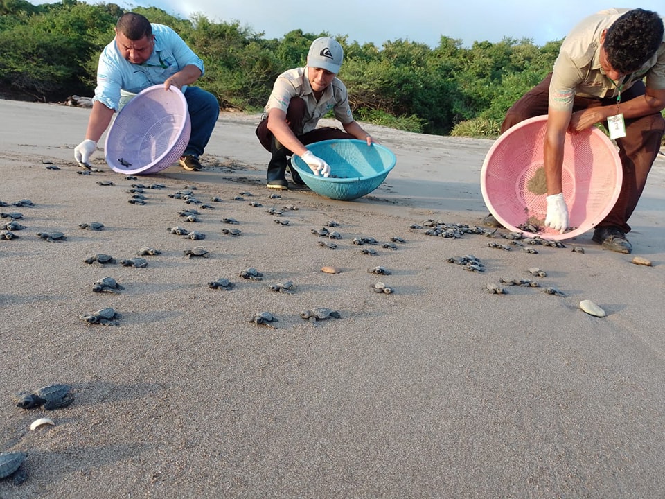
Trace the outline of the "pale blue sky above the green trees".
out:
[[[45,3],[30,0],[32,3]],[[95,3],[95,2],[91,2]],[[188,18],[200,12],[211,21],[239,21],[267,38],[290,30],[348,35],[350,42],[381,46],[392,40],[411,40],[437,46],[441,35],[462,40],[464,46],[504,37],[530,38],[537,45],[559,40],[577,21],[609,7],[645,8],[665,15],[665,3],[598,0],[139,0],[116,1],[123,8],[155,6]],[[450,5],[452,3],[452,5]]]

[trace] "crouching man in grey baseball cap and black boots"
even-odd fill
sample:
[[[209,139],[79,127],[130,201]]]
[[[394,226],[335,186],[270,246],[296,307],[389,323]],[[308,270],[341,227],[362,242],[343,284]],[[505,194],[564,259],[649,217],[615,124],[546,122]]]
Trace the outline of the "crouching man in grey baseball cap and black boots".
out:
[[[351,114],[348,93],[337,78],[342,67],[344,50],[332,37],[320,37],[312,42],[307,65],[289,69],[278,76],[268,99],[263,119],[256,128],[261,145],[272,154],[268,163],[267,186],[288,189],[287,166],[295,184],[303,181],[290,166],[290,156],[298,155],[314,175],[330,175],[330,166],[314,156],[305,146],[330,139],[360,139],[371,146],[373,139]],[[339,128],[317,128],[319,119],[332,110],[342,123]]]

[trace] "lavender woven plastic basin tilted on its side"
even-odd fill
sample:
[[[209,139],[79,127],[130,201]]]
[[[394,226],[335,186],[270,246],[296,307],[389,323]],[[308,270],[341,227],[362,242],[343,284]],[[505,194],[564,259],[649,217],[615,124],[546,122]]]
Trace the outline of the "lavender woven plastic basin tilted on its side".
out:
[[[147,175],[181,157],[191,133],[187,101],[177,87],[154,85],[136,94],[106,135],[106,162],[118,173]]]

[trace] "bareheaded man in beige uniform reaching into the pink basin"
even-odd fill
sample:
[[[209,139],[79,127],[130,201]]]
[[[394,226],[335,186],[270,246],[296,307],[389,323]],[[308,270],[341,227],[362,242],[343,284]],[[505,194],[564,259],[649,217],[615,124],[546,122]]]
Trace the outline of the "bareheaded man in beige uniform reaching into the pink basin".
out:
[[[561,185],[566,132],[605,123],[619,146],[623,184],[593,239],[605,249],[630,253],[627,221],[660,149],[664,108],[665,41],[659,15],[612,8],[583,19],[562,42],[553,72],[517,100],[502,124],[503,133],[520,121],[547,114],[545,225],[560,232],[568,228]]]

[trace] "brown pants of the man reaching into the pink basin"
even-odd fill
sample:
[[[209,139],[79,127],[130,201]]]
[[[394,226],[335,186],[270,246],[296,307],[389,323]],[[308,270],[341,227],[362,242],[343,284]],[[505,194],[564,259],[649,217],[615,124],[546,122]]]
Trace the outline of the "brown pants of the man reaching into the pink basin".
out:
[[[501,125],[501,132],[505,132],[511,126],[532,118],[547,114],[547,102],[549,98],[549,82],[551,73],[538,85],[528,91],[513,107],[506,113],[506,118]],[[631,100],[643,96],[646,89],[641,81],[635,82],[630,89],[621,92],[621,101]],[[576,96],[573,104],[573,112],[587,109],[589,107],[616,105],[616,98],[587,98]],[[608,123],[605,121],[605,126]],[[637,207],[639,197],[642,195],[646,185],[646,177],[649,175],[653,161],[655,161],[660,144],[665,132],[665,119],[657,112],[639,118],[626,119],[626,137],[617,139],[619,146],[619,157],[623,166],[623,184],[619,199],[608,213],[608,216],[598,226],[619,227],[624,232],[630,231],[628,218]]]

